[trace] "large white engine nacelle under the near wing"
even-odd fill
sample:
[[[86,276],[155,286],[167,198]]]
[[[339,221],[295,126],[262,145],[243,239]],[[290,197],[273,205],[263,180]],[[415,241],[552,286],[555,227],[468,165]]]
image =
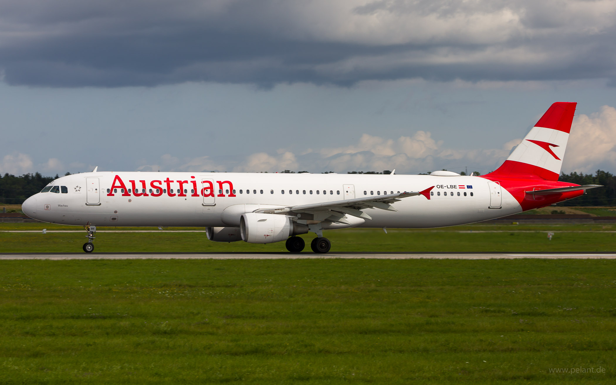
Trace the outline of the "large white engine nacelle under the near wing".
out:
[[[246,213],[240,219],[241,240],[248,243],[285,241],[291,235],[305,234],[308,226],[282,214]]]

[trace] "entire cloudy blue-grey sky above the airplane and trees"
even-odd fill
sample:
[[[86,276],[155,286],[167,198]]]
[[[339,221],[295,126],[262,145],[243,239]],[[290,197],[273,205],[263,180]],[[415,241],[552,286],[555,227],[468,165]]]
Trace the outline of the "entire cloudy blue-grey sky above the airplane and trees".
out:
[[[553,102],[616,172],[615,0],[0,0],[2,174],[483,174]]]

